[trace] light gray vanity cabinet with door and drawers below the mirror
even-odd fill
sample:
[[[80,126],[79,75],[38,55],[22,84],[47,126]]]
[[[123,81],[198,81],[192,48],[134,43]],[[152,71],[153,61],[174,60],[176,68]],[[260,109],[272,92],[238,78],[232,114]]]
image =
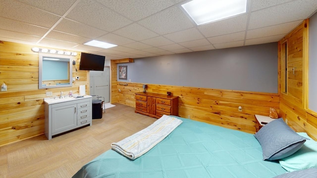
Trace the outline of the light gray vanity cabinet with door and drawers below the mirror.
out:
[[[45,102],[45,135],[48,139],[86,125],[92,125],[91,97]]]

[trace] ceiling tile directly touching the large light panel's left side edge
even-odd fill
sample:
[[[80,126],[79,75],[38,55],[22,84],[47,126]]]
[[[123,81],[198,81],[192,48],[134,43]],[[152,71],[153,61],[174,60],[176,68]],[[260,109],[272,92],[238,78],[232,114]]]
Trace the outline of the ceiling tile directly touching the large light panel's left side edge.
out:
[[[157,14],[140,20],[138,23],[160,35],[194,27],[191,20],[178,6],[169,7]]]

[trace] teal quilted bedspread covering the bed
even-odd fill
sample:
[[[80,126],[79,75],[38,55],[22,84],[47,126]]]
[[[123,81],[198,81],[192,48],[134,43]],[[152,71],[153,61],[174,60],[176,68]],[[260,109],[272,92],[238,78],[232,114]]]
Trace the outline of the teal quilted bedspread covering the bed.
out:
[[[262,160],[253,134],[176,118],[183,123],[143,156],[130,160],[108,150],[73,178],[272,178],[286,173],[278,162]]]

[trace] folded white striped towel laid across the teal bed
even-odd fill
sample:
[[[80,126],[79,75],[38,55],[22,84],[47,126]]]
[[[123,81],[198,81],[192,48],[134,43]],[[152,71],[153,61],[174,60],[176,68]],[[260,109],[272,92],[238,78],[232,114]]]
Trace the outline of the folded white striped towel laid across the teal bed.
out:
[[[163,115],[149,127],[119,142],[111,143],[111,148],[123,156],[135,160],[162,141],[182,122],[180,119]]]

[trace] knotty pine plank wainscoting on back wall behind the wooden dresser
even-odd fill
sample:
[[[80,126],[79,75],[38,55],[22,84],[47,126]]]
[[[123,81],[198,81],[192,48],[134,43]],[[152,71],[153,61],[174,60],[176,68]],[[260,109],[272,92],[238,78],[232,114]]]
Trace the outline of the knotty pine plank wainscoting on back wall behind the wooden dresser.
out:
[[[143,91],[142,85],[117,82],[117,65],[111,61],[111,103],[135,107],[135,93]],[[127,86],[124,86],[127,84]],[[120,89],[120,92],[119,92]],[[179,96],[179,116],[254,134],[255,114],[269,115],[269,108],[279,112],[279,96],[272,93],[246,92],[193,87],[149,85],[148,92]],[[238,111],[242,106],[242,112]]]

